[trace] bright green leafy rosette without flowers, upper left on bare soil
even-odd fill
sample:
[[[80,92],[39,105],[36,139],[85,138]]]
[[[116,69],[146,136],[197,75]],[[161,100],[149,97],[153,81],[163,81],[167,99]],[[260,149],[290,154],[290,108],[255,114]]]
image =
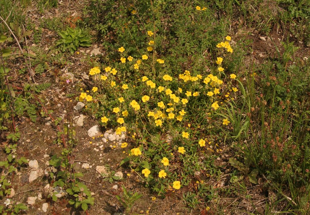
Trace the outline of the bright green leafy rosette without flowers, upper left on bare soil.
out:
[[[67,27],[65,31],[58,33],[61,37],[60,40],[57,41],[56,46],[60,46],[60,50],[65,52],[69,50],[71,53],[75,52],[78,47],[91,46],[91,39],[86,33],[80,28],[70,28]]]

